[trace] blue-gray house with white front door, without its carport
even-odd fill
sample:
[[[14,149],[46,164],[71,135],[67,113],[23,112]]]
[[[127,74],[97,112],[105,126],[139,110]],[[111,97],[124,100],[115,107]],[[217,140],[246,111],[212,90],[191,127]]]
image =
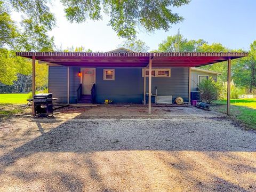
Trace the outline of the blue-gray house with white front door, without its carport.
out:
[[[124,48],[111,52],[132,53]],[[177,97],[189,102],[188,83],[189,68],[170,67],[152,69],[152,93],[154,95],[170,95],[172,103]],[[146,69],[146,77],[148,77]],[[143,103],[143,77],[145,69],[142,67],[71,67],[70,68],[70,103],[91,103],[91,89],[95,83],[95,103],[104,103],[106,99],[114,103]],[[79,74],[79,75],[78,75]],[[191,91],[197,91],[197,84],[203,78],[210,76],[217,80],[219,73],[198,68],[191,68]],[[67,68],[61,65],[49,64],[49,92],[59,98],[58,102],[67,102]],[[196,82],[197,84],[195,84]],[[82,97],[77,90],[82,84]],[[146,83],[146,87],[147,83]],[[148,89],[146,88],[146,93]]]

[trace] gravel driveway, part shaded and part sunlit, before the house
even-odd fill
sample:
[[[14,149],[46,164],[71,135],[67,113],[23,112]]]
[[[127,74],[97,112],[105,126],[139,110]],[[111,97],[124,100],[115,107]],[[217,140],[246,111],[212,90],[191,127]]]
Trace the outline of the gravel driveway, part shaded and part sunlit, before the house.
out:
[[[194,107],[2,119],[0,191],[256,191],[256,132]]]

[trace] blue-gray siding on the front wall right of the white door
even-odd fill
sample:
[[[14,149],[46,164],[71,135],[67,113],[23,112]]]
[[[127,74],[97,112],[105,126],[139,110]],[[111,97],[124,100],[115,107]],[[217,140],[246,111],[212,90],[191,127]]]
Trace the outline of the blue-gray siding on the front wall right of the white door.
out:
[[[115,69],[114,81],[103,80],[103,69],[106,68],[96,69],[96,101],[98,103],[104,102],[105,99],[116,103],[142,103],[142,68],[109,68]],[[188,67],[171,68],[171,77],[153,77],[153,94],[156,86],[158,95],[172,95],[173,101],[177,97],[188,101]],[[148,78],[146,87],[148,92]]]

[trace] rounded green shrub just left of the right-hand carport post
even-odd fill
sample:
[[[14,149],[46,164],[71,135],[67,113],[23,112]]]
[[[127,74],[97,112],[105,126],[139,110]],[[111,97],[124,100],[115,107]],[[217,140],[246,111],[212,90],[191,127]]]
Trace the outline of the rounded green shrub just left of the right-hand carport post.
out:
[[[221,95],[221,85],[211,77],[205,79],[198,85],[201,101],[211,103],[219,99]]]

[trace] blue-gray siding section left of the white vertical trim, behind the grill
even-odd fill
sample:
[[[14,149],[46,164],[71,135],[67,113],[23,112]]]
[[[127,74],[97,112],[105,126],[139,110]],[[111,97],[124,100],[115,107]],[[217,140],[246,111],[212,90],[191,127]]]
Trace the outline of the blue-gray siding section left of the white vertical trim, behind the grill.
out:
[[[67,67],[49,66],[49,93],[55,102],[67,103]]]

